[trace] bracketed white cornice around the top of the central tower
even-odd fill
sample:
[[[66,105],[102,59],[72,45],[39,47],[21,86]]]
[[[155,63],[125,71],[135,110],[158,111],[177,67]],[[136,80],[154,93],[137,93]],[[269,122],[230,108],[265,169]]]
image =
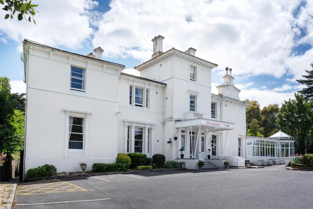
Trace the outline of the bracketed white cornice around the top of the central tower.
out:
[[[209,62],[207,60],[203,60],[203,59],[198,58],[196,56],[193,56],[193,55],[187,54],[183,51],[172,48],[172,49],[164,52],[162,55],[156,56],[156,57],[152,58],[151,60],[148,60],[148,61],[146,61],[146,62],[142,63],[141,65],[138,65],[134,68],[138,71],[143,71],[143,70],[145,70],[145,69],[147,69],[153,65],[156,65],[156,64],[158,64],[164,60],[167,60],[171,57],[177,57],[179,59],[186,60],[188,62],[192,62],[196,65],[200,65],[204,68],[208,68],[211,70],[218,66],[217,64],[214,64],[214,63]]]

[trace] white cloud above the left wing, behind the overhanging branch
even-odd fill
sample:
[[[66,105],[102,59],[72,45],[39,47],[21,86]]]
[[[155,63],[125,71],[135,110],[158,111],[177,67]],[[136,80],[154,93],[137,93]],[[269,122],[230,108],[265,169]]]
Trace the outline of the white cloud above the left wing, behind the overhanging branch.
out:
[[[1,39],[17,41],[22,45],[24,38],[49,46],[66,46],[72,49],[82,47],[86,39],[91,38],[90,27],[92,9],[97,2],[91,0],[50,0],[36,1],[39,6],[34,19],[36,24],[26,20],[19,21],[14,17],[11,21],[0,18]],[[0,17],[7,12],[0,11]],[[21,50],[21,47],[18,47]]]

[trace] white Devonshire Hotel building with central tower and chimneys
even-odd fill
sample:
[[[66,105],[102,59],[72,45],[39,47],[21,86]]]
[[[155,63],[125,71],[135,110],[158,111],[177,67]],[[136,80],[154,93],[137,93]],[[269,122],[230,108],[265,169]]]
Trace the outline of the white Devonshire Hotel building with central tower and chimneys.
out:
[[[211,71],[218,65],[193,48],[162,52],[163,39],[152,39],[152,59],[135,67],[140,77],[101,60],[100,47],[84,56],[25,39],[25,172],[44,164],[77,171],[79,162],[91,170],[93,163],[115,163],[118,153],[130,152],[182,161],[181,148],[193,169],[208,149],[210,161],[248,158],[249,104],[239,99],[232,69],[212,94]]]

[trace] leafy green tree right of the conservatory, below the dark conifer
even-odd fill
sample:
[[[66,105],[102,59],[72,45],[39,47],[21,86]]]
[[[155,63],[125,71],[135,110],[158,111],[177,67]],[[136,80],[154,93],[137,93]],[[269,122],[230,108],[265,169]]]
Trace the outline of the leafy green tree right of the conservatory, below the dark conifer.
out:
[[[277,114],[281,129],[295,137],[295,151],[307,154],[313,145],[313,101],[305,100],[302,94],[295,94],[282,104]]]

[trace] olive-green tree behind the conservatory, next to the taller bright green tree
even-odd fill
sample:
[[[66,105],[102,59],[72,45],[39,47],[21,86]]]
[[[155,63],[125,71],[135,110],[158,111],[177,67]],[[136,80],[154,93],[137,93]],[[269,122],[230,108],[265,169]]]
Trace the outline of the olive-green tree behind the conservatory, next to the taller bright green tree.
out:
[[[278,104],[269,104],[267,107],[263,107],[260,112],[261,120],[260,124],[263,128],[263,134],[265,137],[276,133],[279,130],[279,126],[276,123],[277,114],[279,112]],[[273,133],[274,132],[274,133]]]

